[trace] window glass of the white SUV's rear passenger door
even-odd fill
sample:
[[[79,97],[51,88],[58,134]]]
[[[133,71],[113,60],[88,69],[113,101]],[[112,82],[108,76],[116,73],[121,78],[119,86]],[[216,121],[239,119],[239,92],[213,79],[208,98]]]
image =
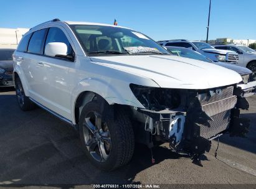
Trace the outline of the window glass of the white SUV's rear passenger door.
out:
[[[33,33],[31,40],[29,41],[29,47],[27,48],[27,52],[32,52],[37,54],[41,53],[45,32],[46,32],[46,29],[42,29]]]

